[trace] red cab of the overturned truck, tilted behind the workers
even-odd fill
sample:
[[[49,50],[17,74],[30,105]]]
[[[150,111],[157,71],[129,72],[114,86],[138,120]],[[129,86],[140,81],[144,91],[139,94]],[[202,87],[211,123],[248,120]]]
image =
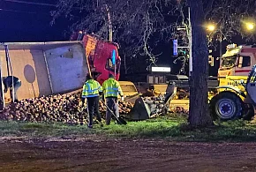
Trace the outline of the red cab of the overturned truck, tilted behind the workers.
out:
[[[97,35],[82,31],[73,33],[71,40],[84,42],[89,70],[100,84],[109,79],[109,74],[119,79],[121,57],[118,55],[119,47],[116,42],[105,41]]]

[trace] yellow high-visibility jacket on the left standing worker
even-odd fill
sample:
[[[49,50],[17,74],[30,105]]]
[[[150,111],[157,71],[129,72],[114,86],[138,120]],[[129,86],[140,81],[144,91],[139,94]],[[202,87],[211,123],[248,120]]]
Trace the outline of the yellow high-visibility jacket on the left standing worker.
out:
[[[89,79],[83,86],[82,98],[99,96],[99,92],[102,92],[102,86],[94,79]]]

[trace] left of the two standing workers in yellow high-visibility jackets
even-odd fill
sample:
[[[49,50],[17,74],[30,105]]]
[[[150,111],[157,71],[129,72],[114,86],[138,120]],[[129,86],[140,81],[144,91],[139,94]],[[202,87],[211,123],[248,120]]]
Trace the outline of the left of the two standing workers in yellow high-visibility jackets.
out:
[[[93,128],[93,116],[96,115],[97,120],[102,126],[102,116],[99,111],[100,95],[102,94],[102,86],[91,75],[87,75],[87,82],[83,86],[82,102],[87,99],[87,111],[89,114],[88,128]],[[95,114],[94,114],[95,113]]]

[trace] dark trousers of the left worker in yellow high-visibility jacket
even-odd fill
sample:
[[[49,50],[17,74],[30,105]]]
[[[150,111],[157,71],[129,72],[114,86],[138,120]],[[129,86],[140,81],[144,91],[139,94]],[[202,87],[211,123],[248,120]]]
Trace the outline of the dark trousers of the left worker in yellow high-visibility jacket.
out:
[[[99,96],[96,97],[87,97],[87,109],[89,114],[89,123],[88,125],[93,124],[94,115],[97,117],[97,120],[102,122],[102,116],[99,111]]]

